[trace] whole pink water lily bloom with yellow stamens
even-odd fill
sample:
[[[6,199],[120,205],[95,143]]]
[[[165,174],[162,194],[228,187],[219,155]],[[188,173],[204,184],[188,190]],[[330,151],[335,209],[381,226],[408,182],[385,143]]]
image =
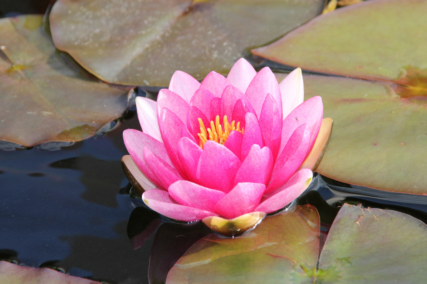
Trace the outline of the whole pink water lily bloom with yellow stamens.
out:
[[[270,213],[289,204],[311,181],[311,168],[300,168],[323,116],[320,97],[303,98],[299,68],[280,85],[268,67],[257,73],[243,58],[227,79],[211,72],[200,84],[175,72],[157,103],[137,98],[145,133],[123,132],[152,184],[143,201],[181,221]]]

